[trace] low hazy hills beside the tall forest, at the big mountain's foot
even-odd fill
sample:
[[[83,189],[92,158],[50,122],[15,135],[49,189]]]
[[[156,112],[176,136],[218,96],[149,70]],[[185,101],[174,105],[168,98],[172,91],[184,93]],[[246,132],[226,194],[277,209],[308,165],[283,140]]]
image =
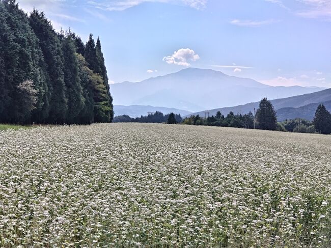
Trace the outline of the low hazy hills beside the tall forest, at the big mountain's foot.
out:
[[[180,114],[181,116],[189,115],[191,112],[177,109],[177,108],[169,108],[169,107],[154,107],[154,106],[143,106],[143,105],[114,105],[115,116],[128,115],[132,118],[146,116],[148,112],[156,112],[160,111],[164,115],[170,114],[171,112],[174,114]]]

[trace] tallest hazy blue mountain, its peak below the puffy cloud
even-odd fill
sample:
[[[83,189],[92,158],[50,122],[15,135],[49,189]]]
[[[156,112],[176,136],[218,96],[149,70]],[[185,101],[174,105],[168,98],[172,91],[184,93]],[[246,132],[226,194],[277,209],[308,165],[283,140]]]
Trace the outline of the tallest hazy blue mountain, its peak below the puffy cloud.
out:
[[[210,69],[186,68],[141,82],[111,85],[115,105],[175,107],[190,112],[246,102],[312,93],[321,88],[272,87],[250,78],[226,75]]]

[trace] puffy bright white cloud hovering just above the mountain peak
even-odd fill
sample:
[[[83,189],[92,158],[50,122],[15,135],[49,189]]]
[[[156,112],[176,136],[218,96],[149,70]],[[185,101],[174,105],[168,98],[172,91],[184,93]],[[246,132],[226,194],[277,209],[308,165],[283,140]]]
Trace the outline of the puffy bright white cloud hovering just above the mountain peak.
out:
[[[168,64],[175,64],[180,66],[190,66],[189,61],[197,61],[200,57],[196,52],[189,48],[181,48],[174,51],[172,56],[163,57],[163,61]]]

